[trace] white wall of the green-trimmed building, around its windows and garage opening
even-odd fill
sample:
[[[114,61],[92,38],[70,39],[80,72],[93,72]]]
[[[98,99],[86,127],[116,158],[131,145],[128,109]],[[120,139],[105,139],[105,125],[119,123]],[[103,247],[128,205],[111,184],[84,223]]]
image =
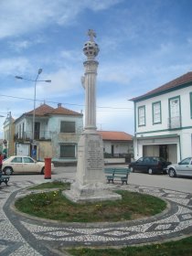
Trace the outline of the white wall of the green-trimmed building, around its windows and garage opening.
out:
[[[134,157],[136,159],[143,156],[144,144],[167,144],[169,160],[173,163],[192,155],[190,92],[192,92],[192,88],[188,86],[187,88],[170,91],[163,95],[135,103]],[[168,127],[169,99],[174,97],[180,98],[181,126],[170,130]],[[161,101],[162,123],[153,124],[152,103],[155,101]],[[146,125],[138,127],[137,108],[143,105],[145,105]],[[160,139],[161,137],[162,139]],[[176,138],[175,141],[174,137]],[[146,139],[145,142],[144,139]]]

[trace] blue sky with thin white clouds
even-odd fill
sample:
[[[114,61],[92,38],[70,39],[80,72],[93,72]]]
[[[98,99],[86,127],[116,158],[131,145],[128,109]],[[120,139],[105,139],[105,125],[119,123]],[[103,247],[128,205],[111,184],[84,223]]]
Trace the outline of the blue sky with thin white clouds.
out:
[[[94,29],[99,44],[97,127],[133,134],[133,102],[192,70],[191,0],[1,0],[1,115],[14,118],[59,102],[84,112],[82,53]],[[5,118],[0,118],[0,137]]]

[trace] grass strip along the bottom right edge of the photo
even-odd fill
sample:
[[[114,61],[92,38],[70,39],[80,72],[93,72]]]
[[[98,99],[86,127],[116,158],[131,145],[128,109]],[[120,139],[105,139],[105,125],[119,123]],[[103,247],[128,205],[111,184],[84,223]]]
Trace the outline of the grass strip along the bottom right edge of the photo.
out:
[[[191,256],[192,237],[161,244],[130,246],[122,249],[70,249],[73,256]]]

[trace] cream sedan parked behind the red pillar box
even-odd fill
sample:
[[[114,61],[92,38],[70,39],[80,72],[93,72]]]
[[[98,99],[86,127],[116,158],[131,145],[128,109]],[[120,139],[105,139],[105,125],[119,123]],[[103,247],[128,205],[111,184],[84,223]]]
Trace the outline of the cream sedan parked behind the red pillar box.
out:
[[[51,163],[51,170],[53,168],[54,165]],[[30,156],[13,155],[3,161],[2,170],[6,176],[13,173],[39,173],[43,175],[45,162],[37,162]]]

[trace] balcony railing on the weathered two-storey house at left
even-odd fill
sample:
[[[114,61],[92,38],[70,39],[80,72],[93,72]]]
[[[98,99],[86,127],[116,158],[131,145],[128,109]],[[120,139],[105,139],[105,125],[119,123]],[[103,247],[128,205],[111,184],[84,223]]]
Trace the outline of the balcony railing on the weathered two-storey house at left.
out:
[[[22,140],[22,141],[30,141],[33,138],[33,134],[31,131],[23,132],[23,133],[15,133],[15,141]],[[50,131],[35,131],[34,133],[35,140],[50,140],[51,139],[51,132]]]

